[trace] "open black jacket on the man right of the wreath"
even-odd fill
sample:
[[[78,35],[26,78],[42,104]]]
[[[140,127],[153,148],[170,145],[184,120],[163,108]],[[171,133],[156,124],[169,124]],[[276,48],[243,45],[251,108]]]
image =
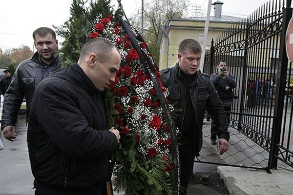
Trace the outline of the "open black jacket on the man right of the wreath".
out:
[[[196,71],[196,77],[190,85],[190,96],[191,102],[195,114],[195,126],[193,131],[194,138],[194,152],[196,156],[199,156],[199,151],[202,147],[202,127],[205,115],[205,110],[207,109],[212,119],[216,122],[216,127],[218,129],[218,137],[225,138],[229,140],[228,132],[228,121],[227,116],[223,107],[223,103],[219,98],[213,84],[209,80],[209,75],[203,74]],[[185,92],[185,81],[181,77],[181,70],[179,64],[177,63],[172,68],[167,68],[162,70],[162,79],[164,85],[168,88],[169,96],[168,99],[171,102],[178,102],[179,108],[183,110],[180,117],[175,120],[176,126],[182,131],[182,122],[185,114],[186,106],[186,92]]]

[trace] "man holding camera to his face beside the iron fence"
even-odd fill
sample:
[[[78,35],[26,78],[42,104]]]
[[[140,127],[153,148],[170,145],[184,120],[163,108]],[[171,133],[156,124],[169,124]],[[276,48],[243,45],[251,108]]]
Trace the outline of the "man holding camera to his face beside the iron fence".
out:
[[[230,111],[231,111],[231,102],[234,98],[237,98],[233,92],[232,89],[236,87],[236,81],[235,78],[232,74],[229,73],[227,69],[227,63],[225,60],[220,60],[217,64],[218,72],[213,73],[210,75],[210,80],[214,84],[216,91],[218,92],[219,97],[221,98],[228,123],[230,121]],[[217,124],[214,124],[212,121],[211,123],[211,128],[210,128],[210,139],[211,139],[211,144],[215,145],[216,144],[216,139],[217,139],[217,130],[216,127]]]

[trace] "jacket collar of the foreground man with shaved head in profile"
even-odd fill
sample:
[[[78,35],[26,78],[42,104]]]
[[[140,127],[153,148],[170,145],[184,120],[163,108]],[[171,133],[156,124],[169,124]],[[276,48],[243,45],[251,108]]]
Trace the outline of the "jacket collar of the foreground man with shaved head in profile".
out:
[[[85,75],[83,69],[75,62],[67,70],[67,75],[88,94],[100,94],[94,83]]]

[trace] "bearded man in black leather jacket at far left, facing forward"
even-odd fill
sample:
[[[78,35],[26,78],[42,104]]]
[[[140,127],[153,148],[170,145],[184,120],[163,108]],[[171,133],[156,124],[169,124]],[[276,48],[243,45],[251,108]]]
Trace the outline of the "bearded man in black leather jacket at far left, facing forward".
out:
[[[31,59],[20,63],[4,96],[1,130],[9,141],[17,137],[15,124],[23,98],[26,100],[28,118],[36,86],[42,79],[62,70],[61,57],[56,54],[58,40],[55,32],[41,27],[33,32],[33,39],[37,52]]]

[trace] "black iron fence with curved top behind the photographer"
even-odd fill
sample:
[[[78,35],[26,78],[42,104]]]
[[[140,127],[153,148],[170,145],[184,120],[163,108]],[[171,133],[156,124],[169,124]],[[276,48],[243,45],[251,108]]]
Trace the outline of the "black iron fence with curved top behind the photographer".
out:
[[[212,40],[204,72],[217,72],[224,59],[238,99],[232,102],[228,153],[214,155],[207,125],[201,162],[276,168],[279,159],[293,167],[293,69],[285,47],[291,17],[291,0],[272,0]]]

